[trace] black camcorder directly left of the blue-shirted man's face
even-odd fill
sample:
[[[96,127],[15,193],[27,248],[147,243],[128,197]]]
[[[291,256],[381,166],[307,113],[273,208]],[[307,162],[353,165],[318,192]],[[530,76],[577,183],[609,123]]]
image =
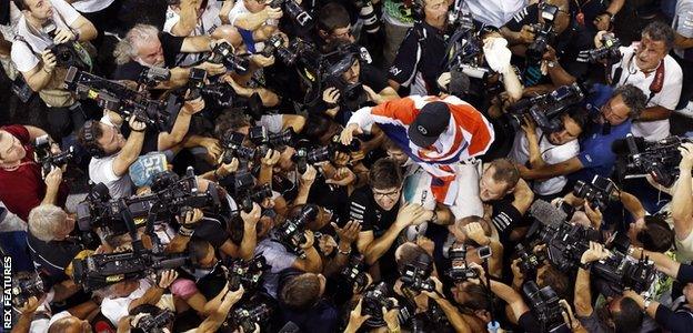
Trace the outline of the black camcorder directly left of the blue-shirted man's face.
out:
[[[510,105],[506,114],[515,131],[524,123],[523,118],[529,115],[544,133],[559,132],[563,130],[561,115],[569,107],[582,102],[584,97],[583,89],[575,82],[545,94],[521,100]]]

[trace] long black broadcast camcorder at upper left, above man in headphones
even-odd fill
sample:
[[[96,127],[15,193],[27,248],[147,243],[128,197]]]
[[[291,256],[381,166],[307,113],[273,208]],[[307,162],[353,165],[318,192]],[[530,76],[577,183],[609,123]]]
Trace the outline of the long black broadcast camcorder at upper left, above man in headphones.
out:
[[[165,101],[152,100],[143,92],[131,90],[124,84],[90,74],[76,67],[68,70],[64,88],[76,92],[80,99],[94,100],[103,109],[117,112],[125,119],[134,117],[161,132],[170,132],[173,129],[182,107],[174,94],[169,94]]]

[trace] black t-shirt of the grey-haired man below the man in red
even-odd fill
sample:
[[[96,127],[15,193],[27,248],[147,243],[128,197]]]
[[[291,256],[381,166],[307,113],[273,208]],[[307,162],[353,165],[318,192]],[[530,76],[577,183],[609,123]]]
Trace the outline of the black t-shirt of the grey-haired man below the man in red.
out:
[[[74,256],[82,251],[82,246],[73,241],[43,242],[27,233],[27,244],[37,271],[43,278],[47,290],[51,285],[68,280],[64,269]]]

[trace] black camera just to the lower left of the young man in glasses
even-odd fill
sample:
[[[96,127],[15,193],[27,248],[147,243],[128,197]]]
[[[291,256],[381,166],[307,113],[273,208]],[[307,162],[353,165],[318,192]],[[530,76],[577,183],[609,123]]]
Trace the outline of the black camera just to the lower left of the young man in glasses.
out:
[[[305,243],[305,225],[318,218],[320,208],[315,204],[304,205],[293,219],[287,219],[284,223],[272,231],[272,240],[284,245],[287,251],[300,258],[305,258],[305,251],[301,248]]]

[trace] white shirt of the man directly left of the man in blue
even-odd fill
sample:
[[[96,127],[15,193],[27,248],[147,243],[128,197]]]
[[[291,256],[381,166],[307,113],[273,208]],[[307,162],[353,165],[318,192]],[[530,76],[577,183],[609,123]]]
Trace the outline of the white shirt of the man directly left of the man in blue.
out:
[[[580,153],[580,143],[578,140],[572,140],[565,144],[555,145],[543,135],[542,130],[536,129],[536,135],[540,138],[539,151],[542,159],[548,164],[558,164],[568,161]],[[519,131],[515,134],[515,141],[513,148],[510,151],[510,158],[520,164],[524,164],[530,159],[530,143],[526,139],[526,134],[523,131]],[[545,181],[535,181],[533,184],[534,192],[540,195],[555,194],[563,190],[568,183],[568,178],[564,175],[554,176]]]

